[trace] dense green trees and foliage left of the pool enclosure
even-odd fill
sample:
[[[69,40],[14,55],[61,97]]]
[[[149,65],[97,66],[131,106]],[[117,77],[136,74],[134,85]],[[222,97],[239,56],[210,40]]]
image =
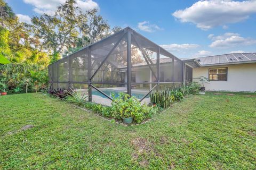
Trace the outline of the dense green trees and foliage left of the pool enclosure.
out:
[[[0,0],[0,23],[0,84],[9,94],[46,90],[50,63],[121,29],[110,30],[97,9],[82,12],[74,0],[34,16],[31,24]]]

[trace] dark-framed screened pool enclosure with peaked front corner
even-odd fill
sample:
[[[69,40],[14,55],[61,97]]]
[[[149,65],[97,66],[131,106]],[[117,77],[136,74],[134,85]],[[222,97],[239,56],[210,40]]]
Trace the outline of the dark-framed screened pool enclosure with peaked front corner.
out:
[[[49,65],[49,78],[51,89],[81,89],[96,103],[119,92],[148,103],[154,89],[182,83],[183,63],[127,27]]]

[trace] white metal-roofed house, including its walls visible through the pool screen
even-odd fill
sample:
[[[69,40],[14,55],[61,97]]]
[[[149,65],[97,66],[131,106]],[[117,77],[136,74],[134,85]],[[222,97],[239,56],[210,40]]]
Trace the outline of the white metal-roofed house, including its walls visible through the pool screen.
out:
[[[156,71],[156,60],[152,60]],[[171,58],[160,58],[160,82],[172,82]],[[207,91],[256,91],[256,53],[235,53],[183,60],[183,82],[198,81],[203,76]],[[175,62],[174,62],[175,65]],[[146,62],[133,64],[133,82],[156,82]],[[176,70],[179,71],[179,70]],[[182,70],[178,75],[182,74]],[[178,82],[176,80],[176,82]],[[199,82],[200,83],[200,82]]]

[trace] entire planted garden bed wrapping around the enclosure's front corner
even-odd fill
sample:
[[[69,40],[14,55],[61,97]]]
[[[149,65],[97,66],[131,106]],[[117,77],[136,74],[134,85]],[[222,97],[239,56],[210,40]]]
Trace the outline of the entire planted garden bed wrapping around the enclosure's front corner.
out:
[[[107,118],[112,122],[122,124],[145,123],[163,109],[170,107],[174,102],[183,100],[188,94],[198,94],[199,84],[190,83],[187,86],[177,88],[164,88],[154,90],[150,94],[149,105],[141,104],[139,99],[120,92],[118,95],[111,94],[111,106],[87,101],[88,96],[82,90],[49,90],[49,94],[68,101],[73,105],[83,107],[94,113]]]

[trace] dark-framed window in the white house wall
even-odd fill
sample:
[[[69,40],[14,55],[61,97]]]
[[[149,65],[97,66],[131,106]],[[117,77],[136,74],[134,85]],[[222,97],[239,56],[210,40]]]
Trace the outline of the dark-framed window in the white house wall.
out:
[[[227,81],[228,68],[214,68],[209,69],[209,81]]]

